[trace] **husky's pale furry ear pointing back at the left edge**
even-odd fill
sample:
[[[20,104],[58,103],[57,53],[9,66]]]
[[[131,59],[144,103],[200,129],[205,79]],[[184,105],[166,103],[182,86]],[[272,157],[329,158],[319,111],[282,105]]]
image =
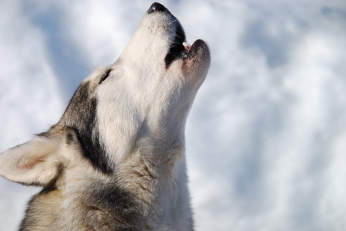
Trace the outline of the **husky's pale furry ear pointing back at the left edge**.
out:
[[[0,154],[0,176],[24,185],[47,186],[63,166],[59,149],[63,139],[38,135],[28,143]]]

